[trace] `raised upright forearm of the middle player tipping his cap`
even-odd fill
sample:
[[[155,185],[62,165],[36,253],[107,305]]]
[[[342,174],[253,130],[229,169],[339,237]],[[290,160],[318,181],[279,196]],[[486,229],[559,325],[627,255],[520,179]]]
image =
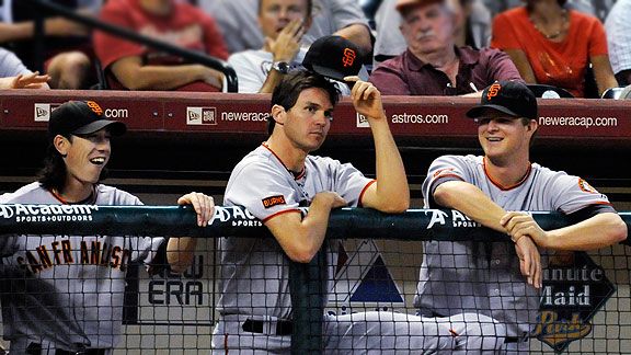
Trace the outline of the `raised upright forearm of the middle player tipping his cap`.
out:
[[[410,208],[410,186],[403,160],[388,127],[388,118],[371,121],[377,171],[377,201],[372,206],[386,213],[402,213]]]

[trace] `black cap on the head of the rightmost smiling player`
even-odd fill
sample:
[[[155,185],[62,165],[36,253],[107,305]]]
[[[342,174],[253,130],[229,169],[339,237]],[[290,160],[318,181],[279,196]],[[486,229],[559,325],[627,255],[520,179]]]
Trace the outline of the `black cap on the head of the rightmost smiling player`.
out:
[[[513,117],[537,119],[537,99],[520,81],[496,81],[482,91],[480,104],[467,112],[470,118],[481,117],[486,108]]]

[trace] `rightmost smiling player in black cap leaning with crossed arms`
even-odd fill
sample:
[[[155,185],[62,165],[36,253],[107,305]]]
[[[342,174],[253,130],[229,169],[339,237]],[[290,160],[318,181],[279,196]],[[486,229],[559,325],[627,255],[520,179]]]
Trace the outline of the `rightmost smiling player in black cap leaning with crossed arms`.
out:
[[[583,179],[530,162],[537,101],[526,85],[490,85],[467,116],[478,123],[484,156],[436,159],[423,183],[425,206],[458,209],[512,240],[426,242],[415,306],[425,314],[480,311],[506,324],[508,350],[527,351],[542,279],[537,245],[603,248],[627,238],[627,227]],[[561,211],[577,222],[543,231],[531,216],[510,210]]]

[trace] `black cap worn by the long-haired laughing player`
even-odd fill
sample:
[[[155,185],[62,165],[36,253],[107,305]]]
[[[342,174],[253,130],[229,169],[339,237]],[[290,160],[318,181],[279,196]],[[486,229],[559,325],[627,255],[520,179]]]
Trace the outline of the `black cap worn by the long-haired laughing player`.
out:
[[[48,138],[88,135],[105,127],[113,136],[121,136],[127,130],[124,123],[105,119],[103,108],[94,101],[68,101],[50,114]]]

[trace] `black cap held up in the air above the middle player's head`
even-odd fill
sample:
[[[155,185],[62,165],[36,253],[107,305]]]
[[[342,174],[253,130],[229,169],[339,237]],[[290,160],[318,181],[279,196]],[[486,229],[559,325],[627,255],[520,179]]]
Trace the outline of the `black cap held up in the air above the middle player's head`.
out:
[[[359,73],[363,56],[353,42],[341,36],[323,36],[311,44],[302,66],[323,77],[344,81],[344,77]]]

